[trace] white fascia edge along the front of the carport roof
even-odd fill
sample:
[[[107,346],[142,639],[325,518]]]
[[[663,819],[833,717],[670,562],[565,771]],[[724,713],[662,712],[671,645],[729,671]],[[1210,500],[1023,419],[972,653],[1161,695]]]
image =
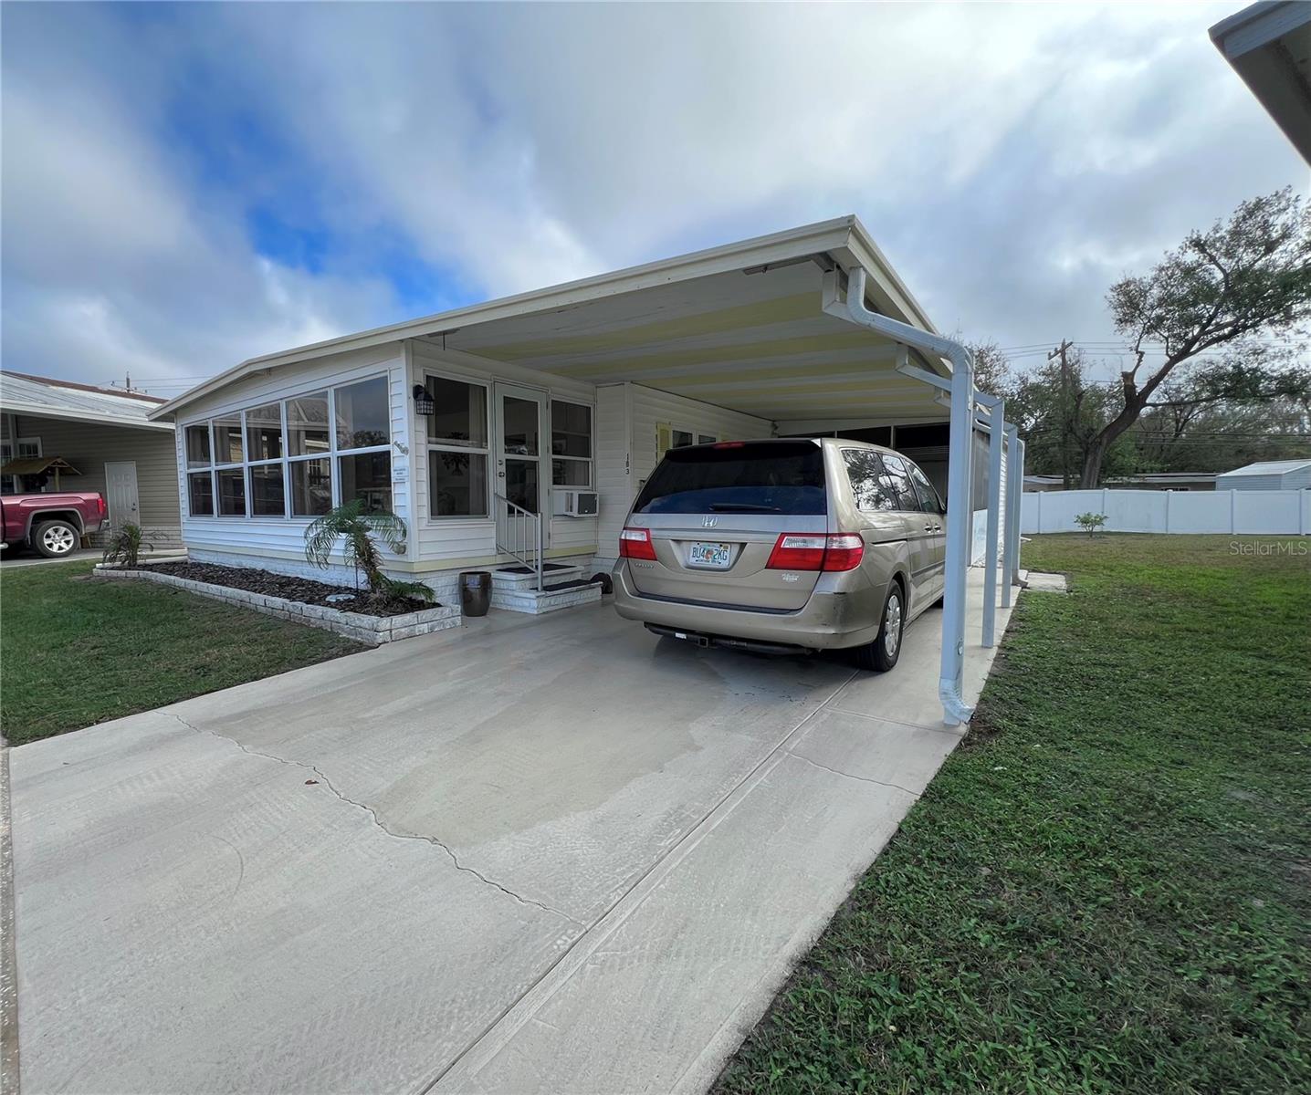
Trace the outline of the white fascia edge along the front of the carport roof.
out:
[[[869,291],[876,297],[873,303],[878,310],[885,310],[898,320],[936,334],[936,329],[924,314],[924,310],[911,296],[901,278],[893,271],[864,225],[855,216],[843,216],[802,228],[793,228],[787,232],[777,232],[771,236],[760,236],[753,240],[694,251],[678,258],[650,262],[594,278],[566,282],[561,286],[534,289],[526,293],[490,300],[484,304],[458,308],[420,320],[408,320],[401,324],[375,327],[278,354],[250,358],[197,385],[178,398],[164,403],[153,410],[149,417],[160,419],[173,415],[187,403],[224,388],[252,372],[262,369],[309,362],[330,354],[367,350],[408,338],[442,334],[443,331],[450,333],[459,327],[490,324],[497,320],[536,312],[551,312],[621,293],[640,292],[645,288],[666,286],[671,282],[692,280],[734,270],[794,262],[808,255],[830,255],[844,269],[853,269],[856,265],[864,266],[869,275]]]

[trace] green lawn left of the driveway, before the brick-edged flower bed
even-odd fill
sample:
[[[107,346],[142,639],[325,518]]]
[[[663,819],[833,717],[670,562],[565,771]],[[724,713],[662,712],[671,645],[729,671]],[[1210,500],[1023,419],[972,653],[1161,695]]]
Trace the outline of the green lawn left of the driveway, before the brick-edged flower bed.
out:
[[[366,647],[90,563],[0,568],[0,727],[12,745]]]

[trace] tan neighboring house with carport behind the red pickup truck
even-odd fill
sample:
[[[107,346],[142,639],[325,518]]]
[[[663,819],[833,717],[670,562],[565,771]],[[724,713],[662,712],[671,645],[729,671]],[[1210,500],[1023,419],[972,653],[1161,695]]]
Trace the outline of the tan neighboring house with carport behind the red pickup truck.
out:
[[[100,491],[109,506],[100,538],[130,521],[155,546],[180,546],[173,423],[149,418],[163,403],[139,392],[0,372],[0,489]]]

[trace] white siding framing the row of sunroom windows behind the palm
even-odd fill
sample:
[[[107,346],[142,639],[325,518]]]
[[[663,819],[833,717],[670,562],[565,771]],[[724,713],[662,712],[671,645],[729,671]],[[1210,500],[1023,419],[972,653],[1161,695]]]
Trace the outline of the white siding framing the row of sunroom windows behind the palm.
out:
[[[409,392],[405,385],[405,364],[399,343],[371,350],[337,354],[304,365],[287,365],[266,376],[248,376],[185,407],[177,415],[177,494],[181,498],[182,538],[197,553],[223,553],[225,555],[282,559],[304,565],[305,525],[308,517],[193,517],[186,504],[186,426],[216,414],[257,406],[274,399],[286,399],[307,392],[317,392],[328,385],[347,384],[385,373],[391,397],[392,428],[392,508],[397,516],[410,523],[409,492],[396,482],[397,466],[409,448],[409,422],[406,406]],[[333,472],[336,474],[336,469]],[[400,473],[400,474],[408,474]],[[412,537],[413,540],[413,532]],[[409,545],[406,545],[409,546]],[[404,557],[392,555],[401,559]]]

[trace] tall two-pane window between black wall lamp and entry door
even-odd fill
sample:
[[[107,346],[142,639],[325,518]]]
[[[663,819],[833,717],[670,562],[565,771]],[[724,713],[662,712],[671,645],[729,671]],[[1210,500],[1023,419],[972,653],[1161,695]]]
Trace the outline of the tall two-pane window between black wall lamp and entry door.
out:
[[[435,403],[427,417],[429,517],[486,517],[488,389],[429,376]]]

